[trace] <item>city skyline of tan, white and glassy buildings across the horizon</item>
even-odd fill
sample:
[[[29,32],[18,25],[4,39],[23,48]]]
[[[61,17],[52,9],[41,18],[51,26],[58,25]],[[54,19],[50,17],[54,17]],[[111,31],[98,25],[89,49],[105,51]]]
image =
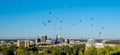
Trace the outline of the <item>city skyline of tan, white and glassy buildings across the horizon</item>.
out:
[[[48,38],[47,36],[37,37],[35,39],[16,39],[16,40],[0,40],[0,46],[2,45],[16,45],[16,46],[73,46],[78,44],[85,44],[86,48],[94,45],[96,48],[102,48],[104,46],[118,46],[120,45],[120,40],[104,40],[101,39],[74,39],[74,38],[64,38],[63,36],[56,35],[55,39]]]

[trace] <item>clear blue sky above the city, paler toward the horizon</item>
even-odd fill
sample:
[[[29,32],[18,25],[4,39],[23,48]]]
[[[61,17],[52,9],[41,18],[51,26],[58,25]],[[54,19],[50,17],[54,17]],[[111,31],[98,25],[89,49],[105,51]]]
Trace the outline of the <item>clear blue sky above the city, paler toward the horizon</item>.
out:
[[[119,24],[119,0],[0,0],[0,38],[119,39]]]

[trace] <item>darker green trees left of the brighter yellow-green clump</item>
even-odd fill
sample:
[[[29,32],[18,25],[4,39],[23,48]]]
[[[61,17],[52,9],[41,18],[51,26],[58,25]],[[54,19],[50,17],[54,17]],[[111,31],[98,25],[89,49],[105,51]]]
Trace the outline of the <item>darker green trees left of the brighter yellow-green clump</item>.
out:
[[[84,53],[85,45],[69,46],[50,46],[50,47],[16,47],[0,46],[3,55],[80,55]]]

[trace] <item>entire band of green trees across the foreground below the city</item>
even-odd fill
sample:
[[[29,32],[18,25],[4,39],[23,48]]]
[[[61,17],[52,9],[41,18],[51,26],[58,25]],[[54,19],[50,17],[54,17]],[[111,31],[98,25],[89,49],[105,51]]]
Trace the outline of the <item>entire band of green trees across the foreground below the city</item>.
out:
[[[3,55],[120,55],[120,46],[104,48],[95,48],[91,46],[85,50],[85,45],[69,46],[56,46],[56,47],[16,47],[1,46],[0,51]]]

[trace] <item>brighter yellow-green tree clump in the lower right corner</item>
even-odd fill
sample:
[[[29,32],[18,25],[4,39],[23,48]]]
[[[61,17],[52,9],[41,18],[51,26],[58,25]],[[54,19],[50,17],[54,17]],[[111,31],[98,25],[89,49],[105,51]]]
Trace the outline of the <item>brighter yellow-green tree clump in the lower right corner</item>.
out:
[[[84,55],[120,55],[120,46],[88,47]]]

